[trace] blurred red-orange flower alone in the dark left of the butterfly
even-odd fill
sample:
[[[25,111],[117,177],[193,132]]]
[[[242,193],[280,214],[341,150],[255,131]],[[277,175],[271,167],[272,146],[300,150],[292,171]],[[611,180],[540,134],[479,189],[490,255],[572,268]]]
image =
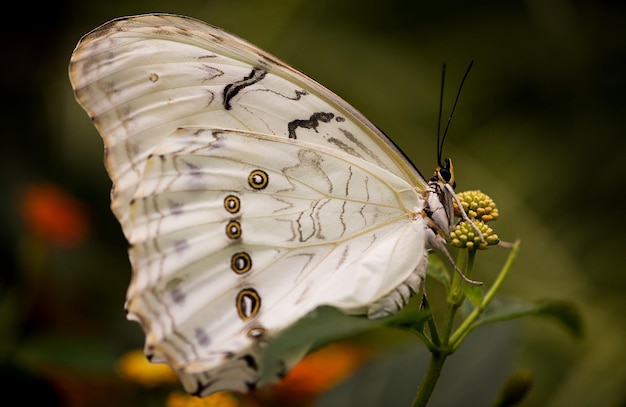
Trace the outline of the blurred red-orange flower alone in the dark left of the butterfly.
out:
[[[20,209],[31,233],[60,246],[75,247],[89,233],[85,206],[56,185],[26,187]]]

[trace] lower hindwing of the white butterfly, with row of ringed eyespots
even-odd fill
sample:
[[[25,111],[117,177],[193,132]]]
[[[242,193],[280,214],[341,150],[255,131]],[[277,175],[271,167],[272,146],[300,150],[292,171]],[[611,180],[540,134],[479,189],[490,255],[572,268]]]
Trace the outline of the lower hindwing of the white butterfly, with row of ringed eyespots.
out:
[[[245,390],[267,335],[323,304],[366,313],[407,278],[425,250],[409,218],[422,204],[345,153],[179,129],[147,159],[132,204],[127,309],[190,392]]]

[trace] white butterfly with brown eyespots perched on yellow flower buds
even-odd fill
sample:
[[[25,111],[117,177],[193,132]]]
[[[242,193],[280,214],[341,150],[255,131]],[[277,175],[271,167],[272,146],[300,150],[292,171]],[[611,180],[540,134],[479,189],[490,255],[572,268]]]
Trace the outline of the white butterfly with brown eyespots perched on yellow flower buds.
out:
[[[240,38],[124,17],[83,37],[69,72],[130,244],[128,318],[190,393],[255,387],[264,344],[320,305],[396,312],[428,251],[447,254],[451,163],[427,182],[353,107]]]

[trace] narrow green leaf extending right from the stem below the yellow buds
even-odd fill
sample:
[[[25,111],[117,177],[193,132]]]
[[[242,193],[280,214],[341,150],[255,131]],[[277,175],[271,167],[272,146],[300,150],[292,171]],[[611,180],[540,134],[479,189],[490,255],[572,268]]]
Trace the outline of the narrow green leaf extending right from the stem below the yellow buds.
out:
[[[576,306],[570,302],[557,300],[526,301],[513,298],[494,298],[476,320],[472,329],[484,324],[530,315],[554,318],[574,336],[582,335],[582,317]]]

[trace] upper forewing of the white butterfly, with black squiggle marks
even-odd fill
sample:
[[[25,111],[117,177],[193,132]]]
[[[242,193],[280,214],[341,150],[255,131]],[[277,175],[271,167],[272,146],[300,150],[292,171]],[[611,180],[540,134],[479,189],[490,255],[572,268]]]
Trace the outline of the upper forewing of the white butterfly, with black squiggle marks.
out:
[[[248,42],[174,15],[121,18],[86,35],[70,63],[79,103],[104,137],[118,219],[146,157],[181,126],[297,138],[372,161],[424,189],[376,126],[337,95]]]

